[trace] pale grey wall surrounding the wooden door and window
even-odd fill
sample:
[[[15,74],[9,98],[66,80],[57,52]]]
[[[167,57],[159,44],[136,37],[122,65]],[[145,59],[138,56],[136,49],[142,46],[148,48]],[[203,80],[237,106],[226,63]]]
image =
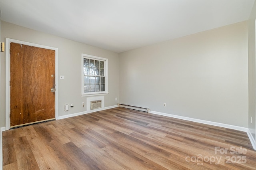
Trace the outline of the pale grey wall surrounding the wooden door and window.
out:
[[[108,58],[108,95],[105,95],[105,107],[117,105],[118,97],[118,53],[74,42],[57,36],[44,34],[35,30],[1,21],[1,41],[5,38],[21,40],[58,48],[58,74],[64,80],[58,81],[58,116],[86,111],[81,97],[81,57],[82,53]],[[1,93],[0,93],[0,127],[5,127],[5,55],[1,53]],[[57,77],[59,79],[59,77]],[[74,103],[69,111],[64,111],[64,104]],[[89,106],[90,107],[90,106]]]

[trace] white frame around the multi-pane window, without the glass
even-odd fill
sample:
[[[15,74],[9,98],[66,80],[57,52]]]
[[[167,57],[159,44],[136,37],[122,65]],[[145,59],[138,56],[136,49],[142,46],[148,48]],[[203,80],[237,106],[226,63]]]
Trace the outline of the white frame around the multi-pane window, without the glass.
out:
[[[105,91],[98,92],[84,92],[84,58],[104,61],[104,77],[105,77]],[[94,55],[82,54],[82,97],[95,96],[95,95],[107,95],[108,94],[108,59],[97,57]]]

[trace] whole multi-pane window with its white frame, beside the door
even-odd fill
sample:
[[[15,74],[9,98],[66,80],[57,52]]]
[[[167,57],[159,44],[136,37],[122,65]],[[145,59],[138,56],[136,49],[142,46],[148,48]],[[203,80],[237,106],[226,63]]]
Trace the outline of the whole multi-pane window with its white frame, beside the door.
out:
[[[108,59],[82,54],[82,96],[108,93]]]

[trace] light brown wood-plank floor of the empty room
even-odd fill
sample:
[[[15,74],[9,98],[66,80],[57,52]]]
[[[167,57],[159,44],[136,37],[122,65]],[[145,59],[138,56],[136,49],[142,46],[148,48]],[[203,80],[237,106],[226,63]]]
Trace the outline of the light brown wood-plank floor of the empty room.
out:
[[[256,169],[246,132],[123,108],[7,130],[3,159],[4,170]]]

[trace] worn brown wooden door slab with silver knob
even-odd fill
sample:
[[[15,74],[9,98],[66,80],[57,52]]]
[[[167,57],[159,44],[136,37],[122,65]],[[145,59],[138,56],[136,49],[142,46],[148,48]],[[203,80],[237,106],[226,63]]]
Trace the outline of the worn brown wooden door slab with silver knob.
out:
[[[10,127],[55,119],[55,51],[10,43]]]

